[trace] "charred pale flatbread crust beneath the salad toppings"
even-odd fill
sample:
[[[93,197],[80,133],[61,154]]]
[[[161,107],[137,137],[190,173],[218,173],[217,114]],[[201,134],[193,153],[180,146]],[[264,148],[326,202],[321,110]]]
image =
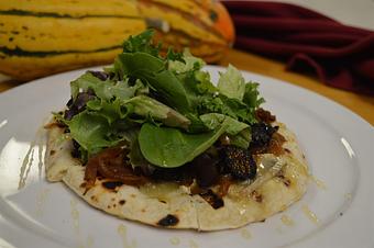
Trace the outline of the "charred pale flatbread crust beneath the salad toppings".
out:
[[[64,131],[56,125],[48,131],[46,177],[50,181],[63,181],[90,205],[121,218],[169,228],[237,228],[286,210],[307,189],[308,168],[295,135],[284,124],[275,125],[286,138],[283,145],[286,153],[280,156],[285,162],[282,176],[265,181],[251,192],[245,191],[249,185],[244,183],[231,184],[222,199],[224,205],[217,210],[200,195],[190,195],[187,187],[175,183],[116,187],[110,181],[97,179],[95,187],[85,193],[85,167],[72,157],[72,142],[62,138]],[[105,187],[106,183],[109,184]]]

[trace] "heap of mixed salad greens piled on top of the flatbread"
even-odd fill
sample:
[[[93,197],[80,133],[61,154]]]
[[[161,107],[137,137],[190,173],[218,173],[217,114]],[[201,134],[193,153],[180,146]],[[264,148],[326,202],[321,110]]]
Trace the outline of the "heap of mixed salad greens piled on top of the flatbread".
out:
[[[82,159],[122,143],[133,166],[179,167],[222,135],[248,148],[255,109],[264,101],[257,83],[229,66],[217,87],[205,63],[188,50],[162,56],[153,31],[130,37],[111,67],[70,82],[67,116],[56,115],[80,146]]]

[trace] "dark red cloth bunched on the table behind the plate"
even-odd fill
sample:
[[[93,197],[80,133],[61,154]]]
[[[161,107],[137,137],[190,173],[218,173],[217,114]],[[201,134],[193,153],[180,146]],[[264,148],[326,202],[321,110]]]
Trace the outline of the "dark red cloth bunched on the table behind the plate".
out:
[[[223,1],[237,30],[234,47],[287,59],[329,86],[374,95],[374,32],[279,2]]]

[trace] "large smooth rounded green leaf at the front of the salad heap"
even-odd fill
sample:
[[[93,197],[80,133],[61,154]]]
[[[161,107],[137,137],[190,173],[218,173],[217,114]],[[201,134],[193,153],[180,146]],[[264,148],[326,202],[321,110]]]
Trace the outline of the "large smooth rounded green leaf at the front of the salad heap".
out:
[[[139,144],[143,156],[152,165],[175,168],[191,161],[226,132],[227,123],[220,128],[202,134],[186,134],[172,127],[157,127],[143,124],[139,134]]]

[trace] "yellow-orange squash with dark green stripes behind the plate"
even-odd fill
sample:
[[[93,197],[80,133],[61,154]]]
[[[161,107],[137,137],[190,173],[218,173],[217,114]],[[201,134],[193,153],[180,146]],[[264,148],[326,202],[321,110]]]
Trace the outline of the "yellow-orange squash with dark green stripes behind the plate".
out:
[[[190,47],[209,63],[234,38],[228,12],[213,0],[0,1],[0,72],[30,80],[108,64],[123,40],[147,27],[164,48]]]

